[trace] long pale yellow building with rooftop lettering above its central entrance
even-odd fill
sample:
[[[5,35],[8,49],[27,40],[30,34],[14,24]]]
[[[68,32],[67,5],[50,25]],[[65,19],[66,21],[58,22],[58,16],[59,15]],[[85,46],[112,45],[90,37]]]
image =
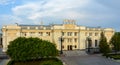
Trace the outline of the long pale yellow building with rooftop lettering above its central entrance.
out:
[[[4,25],[2,32],[3,51],[5,52],[9,42],[17,37],[38,37],[48,40],[55,43],[58,50],[61,47],[63,50],[98,48],[101,32],[104,32],[109,42],[114,29],[80,26],[76,25],[74,20],[65,20],[63,24],[54,25]],[[62,46],[61,38],[63,39]]]

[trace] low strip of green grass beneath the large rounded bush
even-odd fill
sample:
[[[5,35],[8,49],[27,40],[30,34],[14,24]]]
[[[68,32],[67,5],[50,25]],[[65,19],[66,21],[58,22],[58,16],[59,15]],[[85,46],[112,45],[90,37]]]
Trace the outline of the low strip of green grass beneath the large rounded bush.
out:
[[[57,58],[44,58],[44,59],[38,59],[38,60],[29,60],[26,62],[10,61],[8,65],[63,65],[63,64]]]

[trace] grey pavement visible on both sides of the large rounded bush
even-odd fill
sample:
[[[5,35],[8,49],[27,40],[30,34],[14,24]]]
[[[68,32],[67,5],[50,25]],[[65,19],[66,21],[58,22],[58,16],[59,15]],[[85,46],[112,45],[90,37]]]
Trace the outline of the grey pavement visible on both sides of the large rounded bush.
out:
[[[59,58],[64,65],[120,65],[120,61],[108,59],[101,54],[87,54],[85,51],[64,51]],[[7,55],[0,48],[0,65],[9,61]]]

